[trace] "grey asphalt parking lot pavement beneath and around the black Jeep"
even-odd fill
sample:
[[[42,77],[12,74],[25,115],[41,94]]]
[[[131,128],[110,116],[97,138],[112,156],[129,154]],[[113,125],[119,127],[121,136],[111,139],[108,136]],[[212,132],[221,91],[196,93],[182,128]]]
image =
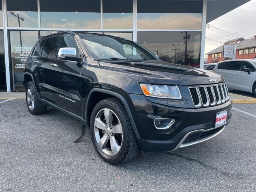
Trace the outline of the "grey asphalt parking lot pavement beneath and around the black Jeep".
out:
[[[89,130],[53,108],[29,114],[0,100],[0,191],[255,191],[256,104],[234,104],[218,136],[119,166],[95,152]]]

